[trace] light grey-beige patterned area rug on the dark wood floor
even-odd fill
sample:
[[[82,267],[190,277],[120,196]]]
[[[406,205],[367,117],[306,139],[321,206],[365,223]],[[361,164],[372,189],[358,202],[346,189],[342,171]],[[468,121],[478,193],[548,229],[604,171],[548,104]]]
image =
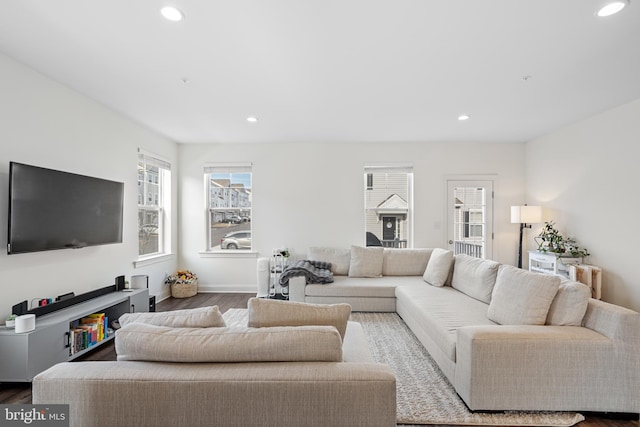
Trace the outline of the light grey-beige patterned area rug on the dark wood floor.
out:
[[[246,325],[247,312],[231,309],[229,326]],[[362,324],[371,352],[396,375],[397,423],[410,425],[572,426],[584,420],[575,412],[473,413],[413,332],[396,313],[352,313]]]

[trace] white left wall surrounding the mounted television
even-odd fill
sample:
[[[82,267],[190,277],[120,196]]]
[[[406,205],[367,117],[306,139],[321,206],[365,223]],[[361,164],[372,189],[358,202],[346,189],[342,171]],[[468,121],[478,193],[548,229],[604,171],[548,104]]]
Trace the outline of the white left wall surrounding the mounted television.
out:
[[[164,272],[175,270],[177,257],[139,269],[132,264],[138,250],[137,148],[176,164],[177,145],[4,55],[0,93],[0,322],[22,300],[87,292],[112,285],[121,274],[148,274],[150,293],[164,292]],[[123,243],[7,255],[9,161],[124,182]]]

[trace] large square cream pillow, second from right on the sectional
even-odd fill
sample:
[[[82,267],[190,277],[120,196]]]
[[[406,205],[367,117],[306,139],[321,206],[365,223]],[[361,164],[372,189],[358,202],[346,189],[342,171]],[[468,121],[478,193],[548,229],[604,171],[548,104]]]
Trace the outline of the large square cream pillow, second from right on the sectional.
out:
[[[544,325],[560,278],[501,265],[487,317],[501,325]]]

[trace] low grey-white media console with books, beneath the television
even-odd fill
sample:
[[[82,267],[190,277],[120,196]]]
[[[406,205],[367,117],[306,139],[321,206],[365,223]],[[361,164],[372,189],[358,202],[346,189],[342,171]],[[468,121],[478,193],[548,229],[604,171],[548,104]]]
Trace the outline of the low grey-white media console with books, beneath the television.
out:
[[[71,354],[71,325],[85,316],[105,313],[109,324],[124,313],[149,311],[149,290],[116,291],[36,317],[36,328],[16,333],[0,326],[0,382],[30,382],[56,363],[73,360],[113,339],[111,335]]]

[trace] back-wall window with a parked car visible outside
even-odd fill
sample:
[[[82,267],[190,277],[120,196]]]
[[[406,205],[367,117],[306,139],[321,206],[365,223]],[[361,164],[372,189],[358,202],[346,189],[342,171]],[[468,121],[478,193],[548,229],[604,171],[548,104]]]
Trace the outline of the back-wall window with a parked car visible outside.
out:
[[[251,164],[204,169],[209,251],[251,250]]]

